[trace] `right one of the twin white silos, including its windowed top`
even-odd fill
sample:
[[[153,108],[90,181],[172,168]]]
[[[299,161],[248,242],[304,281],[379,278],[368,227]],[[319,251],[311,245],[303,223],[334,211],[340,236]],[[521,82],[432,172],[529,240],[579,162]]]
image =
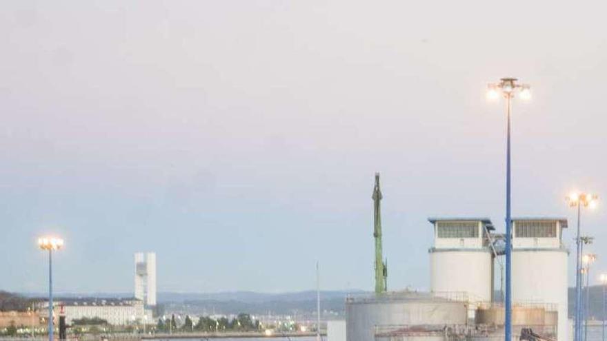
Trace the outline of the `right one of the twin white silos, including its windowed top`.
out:
[[[513,219],[513,304],[557,311],[557,338],[568,340],[566,218]]]

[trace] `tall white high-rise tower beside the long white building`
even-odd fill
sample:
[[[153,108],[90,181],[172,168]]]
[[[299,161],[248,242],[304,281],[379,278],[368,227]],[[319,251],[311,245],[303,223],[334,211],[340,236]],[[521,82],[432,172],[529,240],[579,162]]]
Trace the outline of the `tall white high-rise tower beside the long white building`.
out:
[[[135,298],[146,306],[156,305],[156,254],[135,254]]]

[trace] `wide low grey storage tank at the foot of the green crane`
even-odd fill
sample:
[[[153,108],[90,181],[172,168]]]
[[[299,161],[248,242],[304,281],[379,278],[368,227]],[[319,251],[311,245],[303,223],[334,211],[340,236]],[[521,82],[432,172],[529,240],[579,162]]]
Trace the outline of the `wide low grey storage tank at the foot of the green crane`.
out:
[[[466,326],[467,304],[430,293],[390,292],[346,298],[346,340],[372,341],[379,333],[407,327]],[[428,341],[428,335],[416,340]],[[442,340],[439,339],[439,340]]]

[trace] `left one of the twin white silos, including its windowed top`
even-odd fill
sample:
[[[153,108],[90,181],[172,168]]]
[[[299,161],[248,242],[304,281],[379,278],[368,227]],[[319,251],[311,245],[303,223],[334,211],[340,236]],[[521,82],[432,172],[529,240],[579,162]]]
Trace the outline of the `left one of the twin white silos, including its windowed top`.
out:
[[[493,253],[488,218],[429,218],[434,227],[430,253],[430,290],[435,295],[462,296],[476,305],[493,297]]]

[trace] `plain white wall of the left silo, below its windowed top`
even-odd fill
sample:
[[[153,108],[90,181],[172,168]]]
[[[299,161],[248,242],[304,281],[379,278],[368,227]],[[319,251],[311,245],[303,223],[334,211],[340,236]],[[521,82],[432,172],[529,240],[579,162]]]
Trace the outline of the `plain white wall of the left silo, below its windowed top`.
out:
[[[471,302],[492,298],[493,260],[487,250],[430,251],[430,290],[468,293]]]

